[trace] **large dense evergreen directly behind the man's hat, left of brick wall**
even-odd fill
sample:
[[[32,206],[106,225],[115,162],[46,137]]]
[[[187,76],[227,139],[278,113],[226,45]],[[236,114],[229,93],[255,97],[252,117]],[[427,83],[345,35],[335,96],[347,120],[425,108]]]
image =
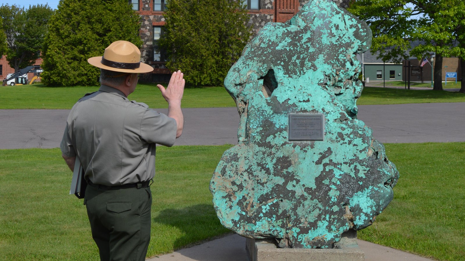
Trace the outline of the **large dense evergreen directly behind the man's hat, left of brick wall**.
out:
[[[139,15],[127,0],[60,0],[46,36],[43,82],[98,85],[99,69],[87,59],[101,56],[116,40],[141,46],[139,30]]]

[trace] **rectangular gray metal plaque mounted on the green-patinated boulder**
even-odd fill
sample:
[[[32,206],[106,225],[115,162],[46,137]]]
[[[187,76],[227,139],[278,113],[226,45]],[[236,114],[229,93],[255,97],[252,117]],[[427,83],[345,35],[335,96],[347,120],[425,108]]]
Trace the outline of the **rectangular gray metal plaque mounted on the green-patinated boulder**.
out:
[[[323,114],[289,114],[289,140],[323,140]]]

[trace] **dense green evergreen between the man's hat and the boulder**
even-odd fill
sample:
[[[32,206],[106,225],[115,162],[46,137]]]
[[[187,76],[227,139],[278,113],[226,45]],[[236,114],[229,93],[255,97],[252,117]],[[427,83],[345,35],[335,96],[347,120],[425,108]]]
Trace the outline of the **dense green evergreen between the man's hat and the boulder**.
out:
[[[191,86],[222,85],[250,39],[249,15],[236,0],[169,0],[165,32],[167,67]]]

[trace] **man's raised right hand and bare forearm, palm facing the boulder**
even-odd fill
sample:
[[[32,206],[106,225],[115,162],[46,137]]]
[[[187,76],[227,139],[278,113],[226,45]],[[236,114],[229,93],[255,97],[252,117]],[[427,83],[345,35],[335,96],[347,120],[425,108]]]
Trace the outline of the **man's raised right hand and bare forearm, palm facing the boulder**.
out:
[[[168,102],[168,117],[176,120],[177,129],[176,137],[181,136],[182,129],[184,128],[184,116],[181,111],[181,99],[184,94],[184,85],[186,81],[183,79],[184,73],[181,71],[173,72],[168,87],[157,85],[161,91],[161,95]]]

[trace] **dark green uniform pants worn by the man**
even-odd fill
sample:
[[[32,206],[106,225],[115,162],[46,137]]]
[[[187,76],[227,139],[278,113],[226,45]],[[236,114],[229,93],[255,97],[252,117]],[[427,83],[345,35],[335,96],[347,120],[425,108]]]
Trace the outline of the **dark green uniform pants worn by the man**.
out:
[[[86,188],[84,203],[101,261],[143,261],[150,242],[148,188]]]

